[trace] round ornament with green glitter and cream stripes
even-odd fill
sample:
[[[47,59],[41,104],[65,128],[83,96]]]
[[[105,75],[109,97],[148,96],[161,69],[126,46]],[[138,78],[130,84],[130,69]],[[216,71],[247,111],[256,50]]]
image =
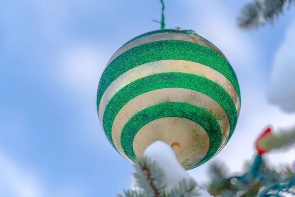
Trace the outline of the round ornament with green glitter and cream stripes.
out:
[[[240,90],[232,66],[211,42],[194,31],[159,30],[133,38],[111,57],[97,110],[108,140],[127,160],[162,140],[188,170],[231,138]]]

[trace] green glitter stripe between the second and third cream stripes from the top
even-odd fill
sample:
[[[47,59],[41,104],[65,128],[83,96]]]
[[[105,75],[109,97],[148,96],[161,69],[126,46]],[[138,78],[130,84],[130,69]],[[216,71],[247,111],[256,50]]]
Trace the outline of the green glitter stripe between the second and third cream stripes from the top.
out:
[[[116,149],[112,139],[112,126],[119,110],[130,100],[149,91],[162,88],[185,88],[201,92],[215,100],[226,112],[230,123],[231,138],[236,128],[236,106],[231,96],[217,83],[198,75],[180,72],[154,74],[136,80],[122,88],[106,106],[103,116],[103,128],[106,136]],[[228,140],[229,140],[228,139]]]

